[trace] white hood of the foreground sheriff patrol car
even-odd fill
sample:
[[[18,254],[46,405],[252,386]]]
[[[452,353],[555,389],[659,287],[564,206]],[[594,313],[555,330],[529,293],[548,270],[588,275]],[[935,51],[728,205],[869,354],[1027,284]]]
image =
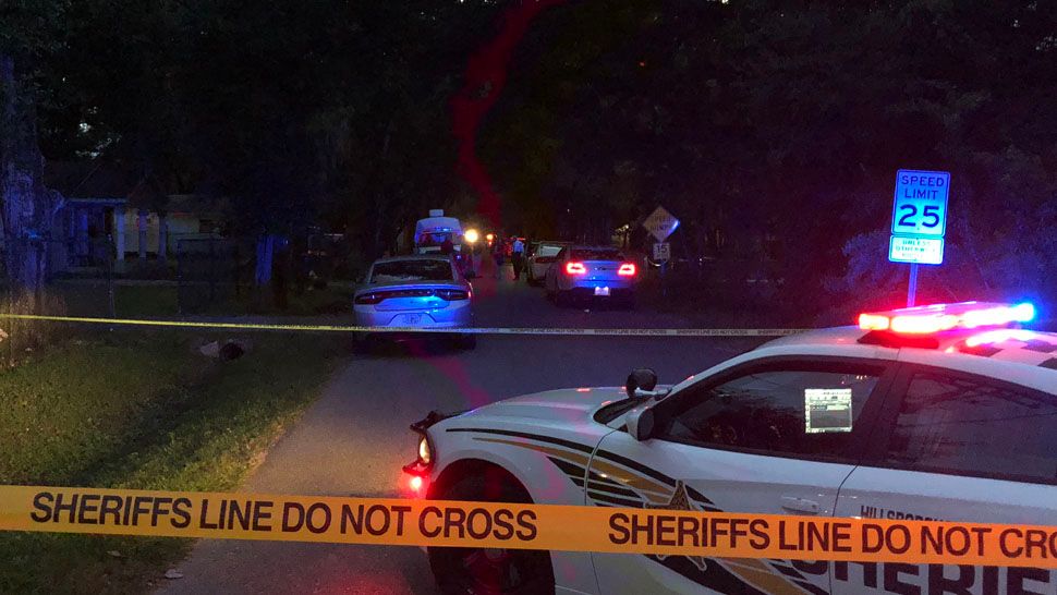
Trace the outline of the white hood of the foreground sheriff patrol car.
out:
[[[624,398],[622,387],[564,388],[523,394],[484,405],[466,417],[526,417],[581,422],[598,408]]]

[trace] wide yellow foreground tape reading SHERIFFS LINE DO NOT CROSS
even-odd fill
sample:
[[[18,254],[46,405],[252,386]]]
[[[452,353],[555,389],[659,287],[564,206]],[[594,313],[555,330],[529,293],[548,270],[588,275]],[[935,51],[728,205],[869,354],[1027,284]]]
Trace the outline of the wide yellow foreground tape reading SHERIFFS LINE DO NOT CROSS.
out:
[[[1057,527],[0,486],[0,531],[1057,569]]]

